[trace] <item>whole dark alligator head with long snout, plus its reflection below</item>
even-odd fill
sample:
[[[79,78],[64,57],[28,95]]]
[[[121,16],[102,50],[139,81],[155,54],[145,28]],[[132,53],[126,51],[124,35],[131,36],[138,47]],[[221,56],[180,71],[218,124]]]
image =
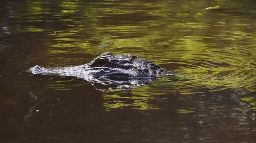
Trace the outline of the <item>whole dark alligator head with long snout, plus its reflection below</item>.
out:
[[[173,75],[151,61],[135,55],[103,53],[92,62],[73,67],[44,68],[38,65],[29,69],[33,74],[74,76],[86,79],[96,89],[130,89],[144,85],[157,77]]]

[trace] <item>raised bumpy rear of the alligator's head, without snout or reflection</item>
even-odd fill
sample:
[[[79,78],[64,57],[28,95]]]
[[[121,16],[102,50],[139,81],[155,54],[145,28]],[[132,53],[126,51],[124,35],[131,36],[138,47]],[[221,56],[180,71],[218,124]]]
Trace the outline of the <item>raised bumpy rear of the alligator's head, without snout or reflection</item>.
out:
[[[87,75],[114,78],[155,78],[162,76],[163,69],[134,55],[113,55],[109,52],[99,55],[84,65]]]

